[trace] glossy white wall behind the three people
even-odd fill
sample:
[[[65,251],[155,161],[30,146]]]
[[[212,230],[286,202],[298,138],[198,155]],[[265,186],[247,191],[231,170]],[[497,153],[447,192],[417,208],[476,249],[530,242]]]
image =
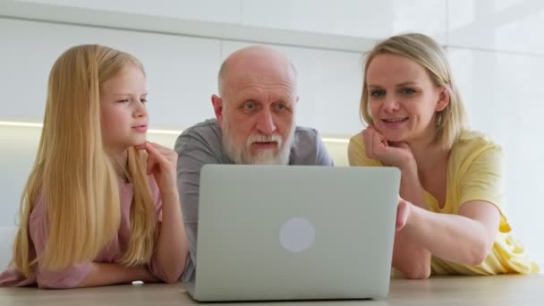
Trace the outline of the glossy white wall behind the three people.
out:
[[[544,213],[539,175],[544,173],[544,3],[539,0],[0,3],[0,120],[40,122],[56,56],[75,44],[102,43],[146,65],[151,127],[183,129],[212,116],[209,96],[222,59],[238,47],[264,42],[285,50],[299,68],[299,123],[346,138],[362,128],[357,115],[362,52],[377,38],[412,30],[446,47],[472,127],[503,144],[509,221],[544,265],[538,236],[544,232],[538,219]],[[38,136],[22,128],[3,131],[0,225],[13,225]],[[344,145],[328,145],[339,164],[345,163]]]

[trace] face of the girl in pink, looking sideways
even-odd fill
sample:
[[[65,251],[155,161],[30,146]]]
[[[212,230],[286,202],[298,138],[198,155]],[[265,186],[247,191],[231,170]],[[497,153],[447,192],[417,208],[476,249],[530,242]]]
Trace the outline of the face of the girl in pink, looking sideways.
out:
[[[123,156],[129,147],[146,140],[148,110],[146,79],[135,65],[128,65],[100,85],[100,121],[106,149]]]

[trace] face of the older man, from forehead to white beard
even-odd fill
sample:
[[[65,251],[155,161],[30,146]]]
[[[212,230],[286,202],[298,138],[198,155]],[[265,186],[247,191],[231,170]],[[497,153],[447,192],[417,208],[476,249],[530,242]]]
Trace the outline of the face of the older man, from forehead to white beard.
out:
[[[297,101],[293,72],[236,73],[226,84],[218,118],[226,154],[236,164],[287,165]]]

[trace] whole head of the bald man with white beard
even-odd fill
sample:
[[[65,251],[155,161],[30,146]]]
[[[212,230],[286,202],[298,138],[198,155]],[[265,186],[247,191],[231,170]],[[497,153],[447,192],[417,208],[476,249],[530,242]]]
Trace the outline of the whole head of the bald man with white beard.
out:
[[[212,95],[226,155],[235,164],[287,165],[294,141],[296,71],[281,52],[244,47],[225,59]]]

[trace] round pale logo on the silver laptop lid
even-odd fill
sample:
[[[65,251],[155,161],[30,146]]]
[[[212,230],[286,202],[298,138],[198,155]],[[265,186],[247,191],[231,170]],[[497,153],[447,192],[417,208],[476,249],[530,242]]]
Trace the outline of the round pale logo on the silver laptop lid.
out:
[[[293,217],[279,230],[279,242],[285,250],[293,253],[307,250],[315,239],[316,229],[305,217]]]

